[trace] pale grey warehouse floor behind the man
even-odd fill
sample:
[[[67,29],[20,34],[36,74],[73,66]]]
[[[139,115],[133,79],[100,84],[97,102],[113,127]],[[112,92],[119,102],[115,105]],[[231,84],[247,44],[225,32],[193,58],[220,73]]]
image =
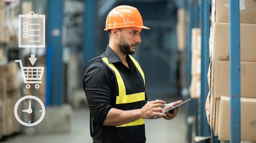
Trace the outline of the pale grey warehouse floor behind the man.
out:
[[[160,98],[159,98],[160,99]],[[165,98],[173,102],[180,98]],[[182,108],[183,107],[183,108]],[[187,143],[186,109],[180,107],[178,115],[170,121],[165,119],[146,119],[147,143]],[[65,134],[17,134],[2,143],[92,143],[89,130],[89,110],[76,110],[72,116],[71,132]]]

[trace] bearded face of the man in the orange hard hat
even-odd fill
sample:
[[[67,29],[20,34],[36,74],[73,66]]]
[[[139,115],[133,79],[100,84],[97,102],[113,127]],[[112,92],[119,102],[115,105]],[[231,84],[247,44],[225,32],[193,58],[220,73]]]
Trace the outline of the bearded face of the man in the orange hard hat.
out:
[[[134,54],[136,46],[141,43],[140,35],[141,28],[137,27],[128,27],[121,28],[120,37],[119,37],[119,49],[122,53]]]

